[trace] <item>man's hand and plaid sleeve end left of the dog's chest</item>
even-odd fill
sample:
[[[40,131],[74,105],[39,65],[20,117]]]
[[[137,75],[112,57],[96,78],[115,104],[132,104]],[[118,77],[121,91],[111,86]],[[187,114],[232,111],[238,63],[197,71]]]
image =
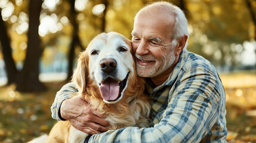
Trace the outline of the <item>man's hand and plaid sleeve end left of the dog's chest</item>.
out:
[[[91,110],[90,104],[82,95],[76,95],[78,89],[70,82],[57,92],[54,103],[51,106],[52,117],[57,120],[69,120],[71,125],[82,132],[94,135],[106,132],[109,122],[103,120],[104,114],[98,114]]]

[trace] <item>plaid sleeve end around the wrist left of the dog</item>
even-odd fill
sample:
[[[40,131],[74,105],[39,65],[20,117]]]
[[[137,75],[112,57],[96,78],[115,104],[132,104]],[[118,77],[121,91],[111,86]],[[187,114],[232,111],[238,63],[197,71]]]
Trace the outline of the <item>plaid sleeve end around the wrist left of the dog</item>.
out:
[[[67,83],[57,92],[53,105],[51,105],[51,117],[53,119],[64,120],[60,116],[60,106],[64,100],[72,98],[75,92],[78,92],[78,89],[73,82]]]

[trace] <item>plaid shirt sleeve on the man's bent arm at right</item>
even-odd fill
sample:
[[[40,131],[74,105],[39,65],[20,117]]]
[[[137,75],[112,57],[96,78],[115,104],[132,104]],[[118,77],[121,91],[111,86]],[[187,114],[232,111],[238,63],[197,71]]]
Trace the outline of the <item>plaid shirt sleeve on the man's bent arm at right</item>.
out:
[[[89,142],[200,142],[219,114],[217,77],[196,67],[178,79],[168,107],[153,128],[128,127],[93,135]],[[221,141],[220,141],[221,142]]]

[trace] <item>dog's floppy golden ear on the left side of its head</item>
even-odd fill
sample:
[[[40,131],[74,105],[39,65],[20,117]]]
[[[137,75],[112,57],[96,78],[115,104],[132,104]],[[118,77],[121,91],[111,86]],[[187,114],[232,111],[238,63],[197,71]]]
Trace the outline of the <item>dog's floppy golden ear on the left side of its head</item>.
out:
[[[81,92],[85,92],[85,86],[87,85],[86,83],[89,76],[88,60],[87,51],[79,54],[78,66],[76,67],[72,77],[72,82],[76,83],[79,91]]]

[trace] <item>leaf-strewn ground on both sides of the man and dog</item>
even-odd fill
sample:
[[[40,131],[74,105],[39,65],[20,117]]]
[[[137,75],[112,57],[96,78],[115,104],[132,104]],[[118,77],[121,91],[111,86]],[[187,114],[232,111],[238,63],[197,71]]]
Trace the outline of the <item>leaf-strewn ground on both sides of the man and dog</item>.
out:
[[[256,72],[220,74],[227,96],[227,142],[256,142]],[[27,142],[50,132],[50,107],[64,82],[45,83],[46,92],[24,94],[0,87],[0,143]]]

